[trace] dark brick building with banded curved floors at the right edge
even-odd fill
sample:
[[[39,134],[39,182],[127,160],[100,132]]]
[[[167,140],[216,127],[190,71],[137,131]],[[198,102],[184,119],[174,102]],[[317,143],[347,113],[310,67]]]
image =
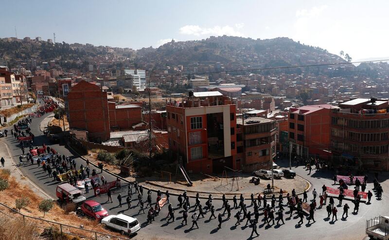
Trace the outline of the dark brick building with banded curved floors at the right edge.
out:
[[[335,164],[389,170],[388,100],[355,98],[331,111]]]

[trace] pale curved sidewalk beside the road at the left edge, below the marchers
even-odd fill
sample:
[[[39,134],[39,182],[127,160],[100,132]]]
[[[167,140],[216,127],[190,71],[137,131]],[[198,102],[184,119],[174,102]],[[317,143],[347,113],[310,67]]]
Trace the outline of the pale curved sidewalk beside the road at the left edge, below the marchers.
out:
[[[8,136],[7,138],[11,138]],[[40,187],[35,185],[28,177],[24,176],[24,174],[18,169],[18,165],[16,165],[16,161],[14,161],[14,158],[12,157],[11,151],[6,143],[2,141],[3,138],[0,140],[0,157],[3,157],[5,160],[4,168],[7,168],[11,171],[11,176],[16,179],[16,181],[21,185],[29,186],[30,189],[39,197],[42,197],[44,199],[53,199],[48,194],[46,194]],[[19,162],[19,156],[15,156],[15,160]],[[24,159],[24,164],[26,163],[26,160]],[[1,169],[0,165],[0,169]]]

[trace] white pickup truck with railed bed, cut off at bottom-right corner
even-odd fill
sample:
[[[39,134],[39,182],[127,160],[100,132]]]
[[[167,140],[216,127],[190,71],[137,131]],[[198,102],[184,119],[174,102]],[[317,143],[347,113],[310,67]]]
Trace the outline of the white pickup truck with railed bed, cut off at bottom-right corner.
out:
[[[366,234],[370,239],[389,240],[389,217],[376,217],[366,221]]]

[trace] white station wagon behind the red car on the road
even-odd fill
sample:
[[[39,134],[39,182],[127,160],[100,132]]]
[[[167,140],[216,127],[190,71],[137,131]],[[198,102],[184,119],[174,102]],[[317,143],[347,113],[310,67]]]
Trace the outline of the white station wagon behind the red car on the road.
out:
[[[103,218],[101,223],[103,223],[103,226],[120,231],[122,235],[134,234],[141,229],[141,225],[136,218],[125,214],[109,215]]]

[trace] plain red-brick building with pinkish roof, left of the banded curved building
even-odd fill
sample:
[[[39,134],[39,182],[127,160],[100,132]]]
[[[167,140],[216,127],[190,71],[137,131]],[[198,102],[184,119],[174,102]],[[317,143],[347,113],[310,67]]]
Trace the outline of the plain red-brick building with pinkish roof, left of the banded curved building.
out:
[[[293,155],[296,154],[306,159],[309,156],[330,158],[330,112],[332,109],[338,109],[338,107],[323,104],[289,109],[288,140]]]

